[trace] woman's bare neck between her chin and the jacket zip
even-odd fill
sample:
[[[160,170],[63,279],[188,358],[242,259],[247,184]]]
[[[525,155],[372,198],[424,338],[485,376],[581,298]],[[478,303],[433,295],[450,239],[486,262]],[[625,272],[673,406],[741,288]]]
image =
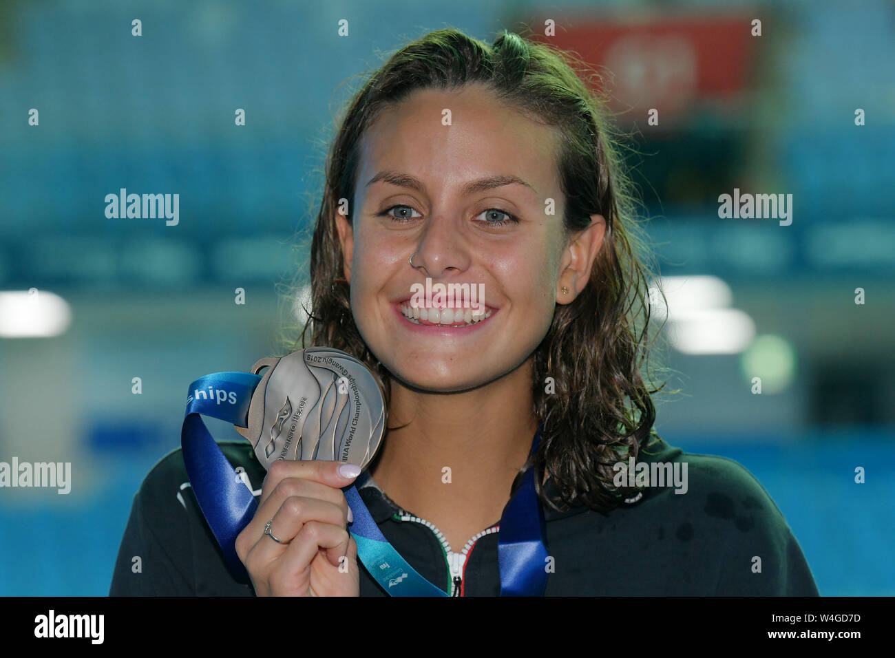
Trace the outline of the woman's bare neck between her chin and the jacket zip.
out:
[[[371,474],[400,507],[438,527],[454,551],[499,521],[528,458],[538,429],[531,365],[462,393],[391,382],[390,428]]]

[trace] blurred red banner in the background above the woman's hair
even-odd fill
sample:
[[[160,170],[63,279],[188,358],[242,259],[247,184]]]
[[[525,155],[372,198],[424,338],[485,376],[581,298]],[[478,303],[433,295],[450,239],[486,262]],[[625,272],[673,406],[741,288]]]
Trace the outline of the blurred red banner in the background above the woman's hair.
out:
[[[539,37],[574,50],[604,75],[613,111],[646,117],[680,115],[701,101],[736,101],[748,85],[754,17],[661,16],[646,20],[588,18],[558,23],[556,35]],[[543,25],[543,21],[533,24]]]

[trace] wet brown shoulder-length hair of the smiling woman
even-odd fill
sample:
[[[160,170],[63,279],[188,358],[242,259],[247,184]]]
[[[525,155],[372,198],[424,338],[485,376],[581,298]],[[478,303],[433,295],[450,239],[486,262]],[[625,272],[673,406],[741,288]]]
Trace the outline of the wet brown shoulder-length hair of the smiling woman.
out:
[[[340,200],[354,200],[360,142],[384,109],[415,90],[487,85],[508,106],[558,129],[567,237],[589,226],[592,214],[606,219],[590,280],[572,303],[556,305],[534,353],[533,411],[544,432],[525,466],[541,474],[549,469],[561,500],[549,500],[536,477],[543,502],[606,512],[634,492],[613,485],[612,465],[636,458],[655,437],[652,393],[660,389],[650,388],[642,375],[651,342],[649,279],[633,185],[624,173],[618,133],[601,94],[584,83],[587,75],[599,77],[572,54],[519,34],[504,30],[489,46],[454,29],[424,35],[372,73],[347,104],[328,152],[311,236],[309,320],[291,349],[331,346],[354,355],[377,376],[388,406],[389,373],[363,342],[351,312],[336,229]],[[289,292],[295,291],[293,286]],[[545,390],[549,377],[552,393]]]

